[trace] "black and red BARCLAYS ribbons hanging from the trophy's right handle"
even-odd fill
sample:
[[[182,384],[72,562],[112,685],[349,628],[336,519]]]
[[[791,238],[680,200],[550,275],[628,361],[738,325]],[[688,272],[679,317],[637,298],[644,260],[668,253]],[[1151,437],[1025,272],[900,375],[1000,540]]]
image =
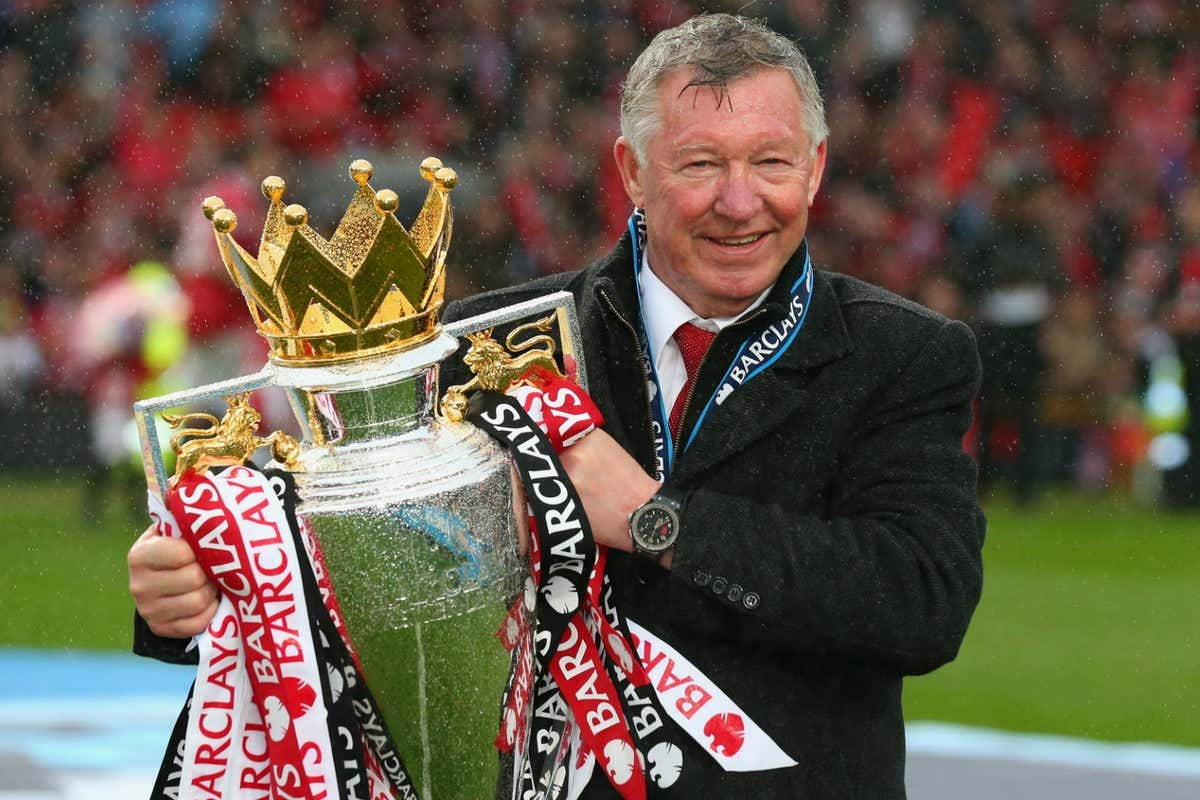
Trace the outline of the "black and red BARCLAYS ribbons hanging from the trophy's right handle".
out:
[[[540,377],[538,384],[522,384],[511,396],[479,392],[468,411],[472,422],[511,451],[533,533],[536,660],[530,675],[514,658],[498,744],[524,756],[520,798],[577,796],[595,765],[625,800],[660,796],[678,778],[683,751],[670,739],[670,717],[617,610],[607,548],[596,547],[557,457],[604,420],[574,383]],[[528,722],[523,712],[530,706],[522,750],[523,739],[508,732]],[[572,741],[574,751],[564,747]]]

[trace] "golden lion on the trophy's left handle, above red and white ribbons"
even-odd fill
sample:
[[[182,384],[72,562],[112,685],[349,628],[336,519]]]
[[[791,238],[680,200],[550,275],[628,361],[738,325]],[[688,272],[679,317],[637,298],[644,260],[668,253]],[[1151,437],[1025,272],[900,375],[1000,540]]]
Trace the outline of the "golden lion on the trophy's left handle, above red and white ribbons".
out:
[[[226,403],[229,410],[220,420],[204,413],[162,415],[175,429],[170,434],[170,449],[178,456],[173,482],[188,469],[204,471],[211,467],[245,464],[256,450],[266,446],[271,447],[271,456],[276,461],[288,469],[295,469],[300,444],[281,431],[266,438],[256,435],[263,416],[250,404],[248,392],[226,397]],[[196,422],[208,422],[209,427],[181,427]]]

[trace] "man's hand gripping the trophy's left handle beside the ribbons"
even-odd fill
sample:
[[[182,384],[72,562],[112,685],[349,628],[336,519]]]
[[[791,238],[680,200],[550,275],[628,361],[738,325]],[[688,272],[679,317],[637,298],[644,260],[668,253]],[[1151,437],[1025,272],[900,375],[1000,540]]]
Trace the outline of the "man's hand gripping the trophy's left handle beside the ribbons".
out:
[[[142,619],[158,636],[184,639],[200,633],[217,610],[217,588],[180,539],[154,527],[130,548],[130,594]]]

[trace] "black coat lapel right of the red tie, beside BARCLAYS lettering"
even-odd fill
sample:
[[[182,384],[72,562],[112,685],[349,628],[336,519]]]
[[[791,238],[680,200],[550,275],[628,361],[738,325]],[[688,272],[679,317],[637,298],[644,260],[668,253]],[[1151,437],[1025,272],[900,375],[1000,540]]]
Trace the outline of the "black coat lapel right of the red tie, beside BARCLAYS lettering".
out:
[[[799,373],[841,359],[852,349],[838,295],[828,277],[817,272],[809,314],[796,341],[775,363],[734,391],[725,403],[709,409],[691,446],[677,458],[672,482],[691,481],[779,428],[810,402],[805,389],[808,381],[799,379]],[[712,392],[713,387],[707,391]]]

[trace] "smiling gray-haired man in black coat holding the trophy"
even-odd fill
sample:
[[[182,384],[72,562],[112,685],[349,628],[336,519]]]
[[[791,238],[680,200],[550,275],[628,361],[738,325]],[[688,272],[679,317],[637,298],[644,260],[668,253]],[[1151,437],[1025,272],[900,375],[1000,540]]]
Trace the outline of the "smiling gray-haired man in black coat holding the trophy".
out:
[[[812,266],[827,130],[788,40],[727,14],[664,31],[630,71],[620,121],[637,211],[616,248],[448,313],[575,295],[606,425],[563,462],[614,551],[624,609],[791,764],[727,771],[680,736],[672,792],[902,798],[902,678],[955,656],[982,585],[960,446],[974,342]],[[131,573],[150,626],[182,636],[212,595],[170,545],[144,539]],[[736,750],[740,733],[713,728],[708,746]],[[616,795],[596,776],[583,796]]]

